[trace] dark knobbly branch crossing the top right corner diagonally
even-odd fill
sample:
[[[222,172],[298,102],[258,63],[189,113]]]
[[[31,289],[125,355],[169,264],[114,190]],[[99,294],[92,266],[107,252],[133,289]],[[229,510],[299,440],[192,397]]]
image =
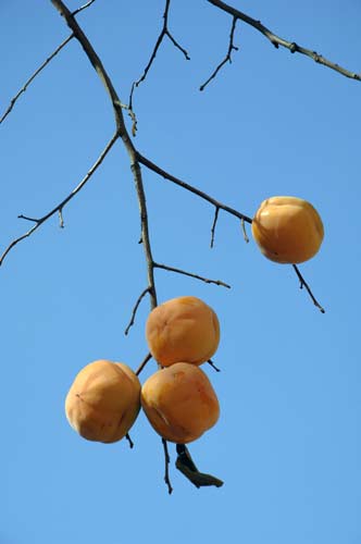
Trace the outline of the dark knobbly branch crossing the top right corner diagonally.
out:
[[[226,4],[222,0],[208,0],[211,4],[215,5],[216,8],[220,8],[220,10],[225,11],[226,13],[229,13],[233,15],[235,18],[239,18],[240,21],[244,21],[244,23],[247,23],[248,25],[252,26],[257,30],[259,30],[263,36],[265,36],[273,46],[276,48],[284,47],[288,49],[291,53],[300,53],[304,54],[306,57],[309,57],[310,59],[314,60],[319,64],[323,64],[324,66],[335,70],[339,74],[349,77],[351,79],[356,79],[358,82],[361,82],[361,74],[357,74],[354,72],[350,72],[349,70],[346,70],[338,64],[335,64],[334,62],[328,61],[321,54],[316,53],[315,51],[312,51],[311,49],[306,49],[304,47],[298,46],[295,44],[295,41],[287,41],[284,38],[281,38],[279,36],[275,35],[270,28],[266,26],[262,25],[260,21],[257,21],[256,18],[250,17],[249,15],[246,15],[246,13],[242,13],[239,10],[236,10],[236,8],[233,8],[232,5]]]

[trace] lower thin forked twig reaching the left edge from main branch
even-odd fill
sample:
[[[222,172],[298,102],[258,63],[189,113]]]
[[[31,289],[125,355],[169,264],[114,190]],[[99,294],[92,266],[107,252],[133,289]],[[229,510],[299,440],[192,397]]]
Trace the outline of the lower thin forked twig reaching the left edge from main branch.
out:
[[[53,208],[48,213],[46,213],[42,218],[39,218],[39,219],[33,219],[33,218],[28,218],[26,215],[18,215],[18,218],[21,218],[21,219],[32,221],[33,223],[35,223],[35,225],[29,231],[27,231],[25,234],[23,234],[22,236],[18,236],[18,238],[13,239],[11,242],[11,244],[9,244],[9,246],[7,247],[7,249],[4,250],[2,256],[0,257],[0,267],[3,263],[3,260],[7,257],[7,255],[9,254],[9,251],[11,251],[11,249],[14,246],[16,246],[23,239],[30,236],[37,228],[39,228],[40,225],[42,225],[42,223],[45,223],[54,213],[59,213],[67,205],[67,202],[70,200],[72,200],[72,198],[74,198],[75,195],[77,195],[77,193],[79,193],[80,189],[83,189],[83,187],[90,180],[90,177],[96,172],[96,170],[100,166],[100,164],[102,163],[102,161],[104,160],[104,158],[107,157],[107,154],[109,153],[109,151],[111,150],[111,148],[113,147],[113,144],[116,141],[117,138],[119,138],[119,134],[115,133],[114,136],[111,138],[111,140],[107,144],[107,146],[105,146],[104,150],[101,152],[99,159],[95,162],[95,164],[91,166],[91,169],[88,171],[88,173],[82,180],[82,182],[72,190],[72,193],[70,193],[70,195],[67,195],[67,197],[65,197],[58,206],[55,206],[55,208]]]

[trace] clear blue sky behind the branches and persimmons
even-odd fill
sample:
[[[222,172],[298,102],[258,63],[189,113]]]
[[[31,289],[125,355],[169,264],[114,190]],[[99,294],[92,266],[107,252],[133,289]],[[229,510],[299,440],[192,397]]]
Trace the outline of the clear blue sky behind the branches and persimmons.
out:
[[[360,71],[361,5],[234,0],[276,34]],[[76,1],[69,1],[75,9]],[[123,101],[140,76],[164,2],[97,0],[78,15]],[[0,3],[1,112],[69,35],[50,1]],[[216,81],[229,17],[206,1],[172,2],[170,27],[191,60],[165,41],[138,88],[136,145],[159,165],[252,215],[273,195],[310,200],[325,226],[322,250],[301,267],[321,314],[289,267],[246,245],[221,212],[144,169],[159,262],[232,289],[157,272],[160,301],[195,295],[219,314],[222,372],[215,428],[190,446],[223,479],[197,490],[174,468],[163,483],[159,437],[140,415],[135,448],[89,443],[64,416],[77,371],[109,358],[136,368],[147,354],[139,213],[117,144],[86,188],[20,244],[0,269],[1,544],[360,544],[360,92],[361,84],[274,49],[238,24],[239,51]],[[80,181],[113,134],[108,97],[72,41],[0,126],[1,249]],[[141,374],[155,369],[151,361]]]

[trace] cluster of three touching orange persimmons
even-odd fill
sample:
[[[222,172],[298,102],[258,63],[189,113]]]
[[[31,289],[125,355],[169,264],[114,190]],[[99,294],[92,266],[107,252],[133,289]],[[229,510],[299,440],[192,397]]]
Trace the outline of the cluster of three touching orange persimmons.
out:
[[[142,407],[165,440],[187,444],[219,419],[220,405],[199,366],[215,353],[220,324],[215,312],[196,297],[178,297],[157,306],[147,320],[150,354],[160,369],[140,385],[126,364],[98,360],[75,378],[65,400],[71,425],[85,438],[123,438]]]

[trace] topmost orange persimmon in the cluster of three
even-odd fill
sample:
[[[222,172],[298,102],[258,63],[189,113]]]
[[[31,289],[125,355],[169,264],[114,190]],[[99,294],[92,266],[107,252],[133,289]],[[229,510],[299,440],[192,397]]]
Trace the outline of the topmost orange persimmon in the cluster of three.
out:
[[[146,337],[151,355],[163,367],[179,361],[201,364],[219,347],[220,323],[199,298],[172,298],[150,312]]]

